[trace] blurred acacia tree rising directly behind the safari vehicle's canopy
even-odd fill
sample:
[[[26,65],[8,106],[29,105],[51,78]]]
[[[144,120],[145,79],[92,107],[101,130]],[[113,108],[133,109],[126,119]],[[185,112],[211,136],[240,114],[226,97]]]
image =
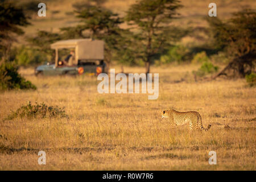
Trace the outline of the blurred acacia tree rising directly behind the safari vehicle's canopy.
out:
[[[82,31],[89,31],[87,36],[93,39],[104,40],[104,61],[106,63],[106,72],[108,72],[113,52],[119,49],[118,43],[122,31],[119,28],[119,24],[123,23],[122,19],[119,18],[118,14],[99,6],[90,6],[75,12],[83,23],[79,25],[82,27]]]

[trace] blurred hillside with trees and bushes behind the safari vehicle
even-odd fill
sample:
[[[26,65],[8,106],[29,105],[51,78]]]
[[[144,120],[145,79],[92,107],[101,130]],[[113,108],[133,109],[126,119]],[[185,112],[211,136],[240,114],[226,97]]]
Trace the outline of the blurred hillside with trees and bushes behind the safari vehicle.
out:
[[[148,73],[152,64],[197,64],[196,77],[255,75],[255,1],[216,1],[217,17],[204,0],[46,0],[46,17],[37,15],[38,3],[0,2],[1,64],[53,62],[51,43],[94,38],[106,43],[107,68],[139,65]]]

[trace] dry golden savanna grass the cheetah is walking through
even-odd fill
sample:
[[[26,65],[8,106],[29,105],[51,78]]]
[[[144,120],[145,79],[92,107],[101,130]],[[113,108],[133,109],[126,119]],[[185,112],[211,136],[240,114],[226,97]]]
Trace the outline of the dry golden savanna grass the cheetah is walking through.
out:
[[[38,89],[0,93],[0,169],[255,170],[256,88],[244,79],[195,82],[197,68],[152,67],[159,73],[157,100],[99,94],[96,77],[35,77],[33,69],[20,70]],[[125,67],[127,73],[143,71]],[[64,106],[69,118],[2,121],[27,101]],[[212,127],[171,130],[160,117],[166,109],[199,111],[203,126]],[[40,150],[46,165],[38,164]],[[209,151],[217,152],[217,165],[209,165]]]

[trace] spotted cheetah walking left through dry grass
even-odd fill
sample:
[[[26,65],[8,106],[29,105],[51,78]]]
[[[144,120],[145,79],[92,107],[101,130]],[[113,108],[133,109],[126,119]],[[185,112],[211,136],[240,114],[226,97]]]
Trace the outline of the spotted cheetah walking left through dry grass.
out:
[[[178,125],[184,125],[189,122],[189,128],[192,131],[193,129],[201,129],[207,131],[210,129],[211,125],[208,125],[207,128],[203,127],[201,115],[197,111],[187,111],[179,112],[174,109],[164,110],[162,118],[169,118],[171,121],[172,129]]]

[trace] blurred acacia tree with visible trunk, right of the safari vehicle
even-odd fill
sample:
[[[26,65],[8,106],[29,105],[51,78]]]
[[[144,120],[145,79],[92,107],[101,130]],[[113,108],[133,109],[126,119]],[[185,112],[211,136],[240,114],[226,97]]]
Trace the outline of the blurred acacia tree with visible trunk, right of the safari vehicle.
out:
[[[150,72],[152,58],[161,53],[171,40],[180,38],[179,28],[170,27],[175,18],[176,10],[181,7],[177,0],[141,0],[131,5],[127,11],[126,21],[135,26],[134,42],[137,45],[136,55]]]

